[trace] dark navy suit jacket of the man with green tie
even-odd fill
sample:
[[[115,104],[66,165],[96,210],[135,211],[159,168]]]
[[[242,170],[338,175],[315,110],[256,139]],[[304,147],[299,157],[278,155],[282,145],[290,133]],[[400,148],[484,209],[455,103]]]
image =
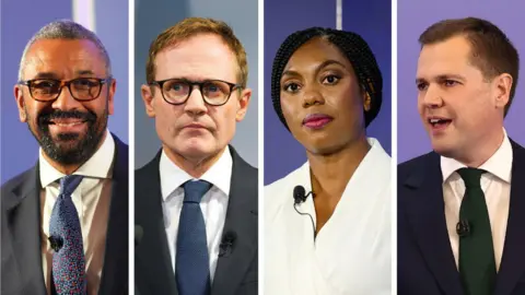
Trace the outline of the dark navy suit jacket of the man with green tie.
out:
[[[525,294],[525,149],[511,144],[511,202],[494,295]],[[446,229],[440,156],[400,164],[397,179],[398,294],[464,294]]]

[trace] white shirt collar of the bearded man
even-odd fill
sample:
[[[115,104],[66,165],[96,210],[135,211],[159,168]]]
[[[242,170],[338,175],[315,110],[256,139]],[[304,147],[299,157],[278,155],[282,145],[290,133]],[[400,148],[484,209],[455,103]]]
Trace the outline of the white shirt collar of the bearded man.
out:
[[[106,135],[101,148],[98,148],[98,150],[84,164],[82,164],[73,175],[82,175],[93,178],[112,178],[113,172],[110,168],[113,156],[115,154],[115,141],[107,129],[105,132]],[[40,185],[45,188],[66,175],[52,167],[44,157],[43,153],[44,151],[40,148],[38,156]]]

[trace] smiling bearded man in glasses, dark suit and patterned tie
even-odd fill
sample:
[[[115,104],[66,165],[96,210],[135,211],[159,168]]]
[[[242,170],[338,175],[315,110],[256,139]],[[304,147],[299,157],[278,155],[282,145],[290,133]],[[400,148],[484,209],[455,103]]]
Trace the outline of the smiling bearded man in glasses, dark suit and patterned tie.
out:
[[[91,31],[40,28],[14,96],[39,143],[1,188],[1,294],[127,294],[128,146],[107,130],[116,82]]]

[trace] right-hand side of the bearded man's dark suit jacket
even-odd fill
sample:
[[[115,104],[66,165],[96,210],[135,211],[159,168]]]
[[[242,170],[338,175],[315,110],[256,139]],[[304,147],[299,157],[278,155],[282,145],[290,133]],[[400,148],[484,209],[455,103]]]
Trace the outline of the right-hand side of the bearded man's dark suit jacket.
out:
[[[125,294],[128,288],[128,150],[114,137],[115,162],[98,294]]]

